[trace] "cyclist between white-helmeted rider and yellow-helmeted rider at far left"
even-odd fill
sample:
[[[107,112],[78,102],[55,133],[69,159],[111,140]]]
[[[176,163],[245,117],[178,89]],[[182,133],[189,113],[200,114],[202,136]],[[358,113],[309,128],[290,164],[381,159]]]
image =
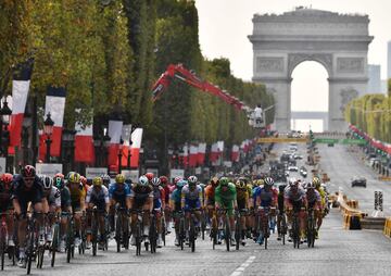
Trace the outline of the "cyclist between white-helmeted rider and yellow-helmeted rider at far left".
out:
[[[61,211],[72,213],[72,201],[70,189],[65,186],[64,175],[55,175],[54,186],[60,190]],[[60,227],[60,252],[65,252],[65,235],[66,235],[67,216],[61,216]]]

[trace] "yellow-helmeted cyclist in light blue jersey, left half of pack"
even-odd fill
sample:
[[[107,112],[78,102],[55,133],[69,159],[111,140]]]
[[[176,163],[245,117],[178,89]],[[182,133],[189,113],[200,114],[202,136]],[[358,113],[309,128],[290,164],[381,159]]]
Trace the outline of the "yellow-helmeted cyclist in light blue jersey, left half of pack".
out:
[[[131,189],[130,186],[125,183],[125,176],[117,174],[115,176],[115,183],[112,184],[109,188],[109,198],[110,198],[110,230],[113,233],[114,229],[114,216],[115,216],[115,206],[119,205],[121,208],[130,209],[130,196]],[[123,217],[123,222],[127,222],[127,217]],[[126,227],[126,226],[125,226]]]

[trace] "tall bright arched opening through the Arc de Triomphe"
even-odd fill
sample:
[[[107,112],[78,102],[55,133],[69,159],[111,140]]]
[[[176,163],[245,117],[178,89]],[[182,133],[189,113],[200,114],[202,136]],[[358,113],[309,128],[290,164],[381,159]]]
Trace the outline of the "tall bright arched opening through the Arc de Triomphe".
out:
[[[326,67],[316,61],[304,61],[293,68],[291,77],[291,129],[327,130],[329,74]]]

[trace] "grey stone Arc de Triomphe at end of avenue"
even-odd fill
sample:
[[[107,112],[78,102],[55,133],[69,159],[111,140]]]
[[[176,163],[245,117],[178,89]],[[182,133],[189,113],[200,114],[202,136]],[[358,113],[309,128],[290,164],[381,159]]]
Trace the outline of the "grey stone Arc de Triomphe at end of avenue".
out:
[[[344,105],[366,92],[367,52],[373,40],[368,16],[297,8],[281,15],[255,14],[253,24],[249,36],[254,52],[253,81],[265,84],[275,96],[275,128],[290,129],[294,67],[317,61],[329,76],[328,130],[345,129]]]

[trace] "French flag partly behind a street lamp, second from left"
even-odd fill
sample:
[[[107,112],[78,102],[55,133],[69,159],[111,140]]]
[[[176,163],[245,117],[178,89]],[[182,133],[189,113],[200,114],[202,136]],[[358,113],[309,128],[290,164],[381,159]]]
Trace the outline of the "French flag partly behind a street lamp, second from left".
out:
[[[49,87],[46,102],[45,102],[45,117],[50,113],[51,120],[54,122],[53,134],[50,139],[52,140],[50,145],[50,155],[60,156],[61,153],[61,138],[62,129],[64,122],[64,111],[65,111],[65,96],[66,90],[63,87]],[[45,140],[47,136],[42,134],[39,139],[39,158],[45,160],[46,155],[46,145]]]

